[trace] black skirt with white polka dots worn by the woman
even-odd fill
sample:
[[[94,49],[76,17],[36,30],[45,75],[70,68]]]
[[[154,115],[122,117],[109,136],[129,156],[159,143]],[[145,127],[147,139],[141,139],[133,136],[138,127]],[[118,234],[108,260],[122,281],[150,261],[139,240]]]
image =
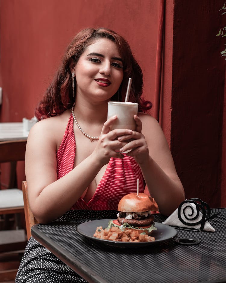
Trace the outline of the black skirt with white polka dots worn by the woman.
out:
[[[67,211],[56,221],[71,221],[76,219],[116,218],[117,211]],[[24,256],[20,262],[15,283],[73,283],[87,282],[69,266],[54,256],[33,237],[27,242]]]

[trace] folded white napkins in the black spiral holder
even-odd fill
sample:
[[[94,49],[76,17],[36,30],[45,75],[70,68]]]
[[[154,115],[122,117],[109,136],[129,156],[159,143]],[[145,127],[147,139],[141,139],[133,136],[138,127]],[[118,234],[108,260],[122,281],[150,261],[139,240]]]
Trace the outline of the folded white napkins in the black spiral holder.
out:
[[[183,214],[183,209],[184,209],[184,206],[187,206],[188,204],[191,204],[194,208],[194,213],[196,212],[196,206],[195,204],[193,203],[184,203],[181,207],[181,218],[186,221],[187,223],[196,223],[198,221],[200,221],[202,219],[202,213],[199,211],[199,216],[195,219],[195,220],[188,220],[184,217],[184,214]],[[179,218],[178,218],[178,215],[177,215],[177,211],[178,211],[178,208],[164,221],[162,222],[162,224],[167,224],[167,225],[172,225],[172,226],[178,226],[178,227],[189,227],[189,228],[196,228],[196,229],[199,229],[201,227],[201,224],[198,224],[198,225],[195,225],[195,226],[189,226],[189,225],[185,225],[183,224]],[[191,208],[187,207],[186,210],[185,210],[185,215],[188,217],[188,218],[193,218],[193,216],[189,216],[189,214],[192,214],[192,210]],[[203,230],[205,231],[209,231],[209,232],[215,232],[215,229],[209,224],[208,221],[205,222],[205,225],[204,225],[204,228]]]

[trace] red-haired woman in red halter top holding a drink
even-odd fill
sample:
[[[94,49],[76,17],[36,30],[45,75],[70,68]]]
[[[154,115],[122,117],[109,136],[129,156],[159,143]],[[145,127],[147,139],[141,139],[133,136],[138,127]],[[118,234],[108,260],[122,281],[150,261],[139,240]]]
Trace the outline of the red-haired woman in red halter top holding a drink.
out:
[[[108,101],[124,101],[129,78],[130,101],[139,104],[136,131],[109,131],[117,117],[106,121]],[[115,217],[121,197],[137,191],[137,179],[139,192],[146,184],[162,214],[171,214],[184,201],[161,127],[143,113],[151,105],[141,98],[142,88],[142,71],[123,37],[106,28],[77,34],[36,109],[42,121],[27,141],[29,202],[40,223],[94,213]],[[16,282],[62,281],[83,279],[31,238]]]

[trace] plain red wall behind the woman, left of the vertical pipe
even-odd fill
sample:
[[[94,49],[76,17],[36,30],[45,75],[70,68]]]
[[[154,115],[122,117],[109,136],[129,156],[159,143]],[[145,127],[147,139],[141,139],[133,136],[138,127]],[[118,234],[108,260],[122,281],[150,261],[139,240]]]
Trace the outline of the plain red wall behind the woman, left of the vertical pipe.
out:
[[[71,38],[85,27],[105,26],[129,41],[152,99],[159,1],[1,1],[1,121],[33,116]]]

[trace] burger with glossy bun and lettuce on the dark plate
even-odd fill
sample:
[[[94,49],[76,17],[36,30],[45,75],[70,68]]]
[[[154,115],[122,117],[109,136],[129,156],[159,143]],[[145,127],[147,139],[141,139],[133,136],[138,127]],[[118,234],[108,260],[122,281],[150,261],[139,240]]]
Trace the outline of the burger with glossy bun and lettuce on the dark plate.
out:
[[[143,233],[150,234],[156,230],[154,216],[151,214],[152,201],[146,194],[128,194],[118,203],[117,220],[115,226],[124,226],[131,229],[141,229]]]

